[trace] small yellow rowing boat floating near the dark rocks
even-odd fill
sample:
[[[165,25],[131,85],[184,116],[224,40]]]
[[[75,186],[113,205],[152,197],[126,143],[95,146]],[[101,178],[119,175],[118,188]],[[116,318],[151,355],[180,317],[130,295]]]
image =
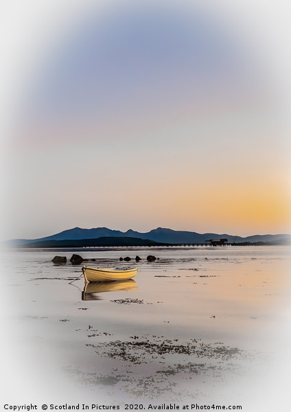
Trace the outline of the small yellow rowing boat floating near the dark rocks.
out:
[[[137,274],[137,268],[115,270],[83,266],[82,271],[86,283],[129,280]]]

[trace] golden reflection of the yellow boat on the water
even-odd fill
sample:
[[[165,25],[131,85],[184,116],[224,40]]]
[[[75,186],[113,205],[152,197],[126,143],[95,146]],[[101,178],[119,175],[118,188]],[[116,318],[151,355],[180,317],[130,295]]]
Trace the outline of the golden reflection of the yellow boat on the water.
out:
[[[98,293],[117,292],[118,290],[137,290],[137,282],[132,279],[121,282],[90,282],[84,286],[82,300],[100,300]]]

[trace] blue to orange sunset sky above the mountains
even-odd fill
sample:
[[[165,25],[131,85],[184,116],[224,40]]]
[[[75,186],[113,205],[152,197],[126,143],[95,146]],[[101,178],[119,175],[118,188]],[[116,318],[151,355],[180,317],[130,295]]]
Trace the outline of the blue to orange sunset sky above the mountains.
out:
[[[280,5],[8,8],[2,238],[76,226],[291,233]]]

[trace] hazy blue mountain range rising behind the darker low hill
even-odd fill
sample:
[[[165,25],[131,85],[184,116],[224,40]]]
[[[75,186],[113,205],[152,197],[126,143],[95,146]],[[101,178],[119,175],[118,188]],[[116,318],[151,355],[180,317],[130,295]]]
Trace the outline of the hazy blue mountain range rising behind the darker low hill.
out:
[[[226,238],[230,243],[243,243],[243,242],[271,242],[272,244],[290,244],[291,235],[290,234],[277,234],[277,235],[253,235],[242,238],[241,236],[233,236],[227,233],[196,233],[194,231],[176,231],[172,229],[165,229],[158,227],[157,229],[152,229],[146,233],[133,231],[129,229],[128,231],[122,232],[119,230],[108,229],[107,227],[97,227],[93,229],[82,229],[80,227],[75,227],[73,229],[68,229],[56,233],[45,238],[38,239],[14,239],[8,242],[4,242],[5,246],[26,246],[32,247],[32,244],[45,242],[48,244],[49,241],[60,241],[60,240],[92,240],[97,238],[136,238],[143,240],[152,240],[158,243],[167,244],[189,244],[189,243],[205,243],[206,240],[210,239],[220,239]],[[82,242],[83,243],[83,242]]]

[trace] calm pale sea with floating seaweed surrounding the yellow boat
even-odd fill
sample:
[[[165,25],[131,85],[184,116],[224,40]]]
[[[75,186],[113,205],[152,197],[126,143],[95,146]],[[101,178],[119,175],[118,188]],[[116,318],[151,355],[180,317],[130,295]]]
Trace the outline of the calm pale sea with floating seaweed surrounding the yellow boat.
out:
[[[142,260],[135,281],[84,291],[72,253],[90,266]],[[266,411],[289,367],[290,259],[290,247],[4,251],[7,397]]]

